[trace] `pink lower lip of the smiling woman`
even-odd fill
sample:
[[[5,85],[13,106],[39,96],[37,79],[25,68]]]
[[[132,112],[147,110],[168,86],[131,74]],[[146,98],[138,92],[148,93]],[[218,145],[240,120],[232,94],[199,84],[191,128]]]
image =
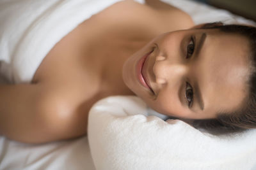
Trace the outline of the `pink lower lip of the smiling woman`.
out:
[[[151,88],[149,87],[149,85],[145,81],[145,78],[142,74],[142,69],[143,69],[145,60],[147,59],[148,55],[150,55],[150,53],[152,53],[152,52],[149,52],[146,55],[144,55],[143,57],[141,57],[141,59],[138,60],[138,62],[136,64],[136,73],[137,73],[138,80],[140,81],[141,85],[143,85],[144,87],[146,87],[149,90],[151,90]]]

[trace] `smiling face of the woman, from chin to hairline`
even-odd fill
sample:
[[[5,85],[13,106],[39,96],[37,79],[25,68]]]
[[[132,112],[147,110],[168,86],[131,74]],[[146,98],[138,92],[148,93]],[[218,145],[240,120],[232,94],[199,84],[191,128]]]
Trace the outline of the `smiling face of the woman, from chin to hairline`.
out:
[[[216,118],[247,95],[249,43],[216,29],[167,32],[124,64],[127,87],[150,108],[178,118]]]

